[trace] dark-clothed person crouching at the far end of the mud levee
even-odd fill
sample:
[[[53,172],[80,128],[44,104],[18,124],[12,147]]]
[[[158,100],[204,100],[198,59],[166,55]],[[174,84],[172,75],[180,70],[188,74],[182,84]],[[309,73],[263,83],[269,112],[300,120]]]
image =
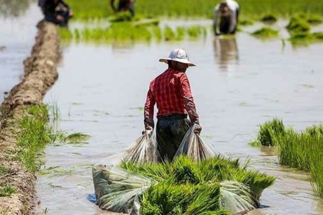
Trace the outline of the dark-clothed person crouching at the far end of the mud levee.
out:
[[[73,16],[72,10],[62,0],[39,0],[38,5],[47,22],[67,26],[68,20]]]

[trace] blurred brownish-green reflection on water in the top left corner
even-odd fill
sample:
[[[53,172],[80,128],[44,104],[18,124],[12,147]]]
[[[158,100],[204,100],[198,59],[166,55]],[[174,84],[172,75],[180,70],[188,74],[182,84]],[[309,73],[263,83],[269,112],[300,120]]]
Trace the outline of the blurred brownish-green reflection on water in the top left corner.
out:
[[[0,0],[0,16],[20,16],[29,8],[32,0]]]

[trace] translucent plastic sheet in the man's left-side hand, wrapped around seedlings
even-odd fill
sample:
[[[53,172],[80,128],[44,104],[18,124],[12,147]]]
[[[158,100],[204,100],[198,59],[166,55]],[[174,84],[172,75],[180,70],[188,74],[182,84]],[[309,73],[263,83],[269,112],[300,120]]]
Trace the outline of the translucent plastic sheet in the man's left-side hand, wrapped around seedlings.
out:
[[[157,162],[157,142],[153,131],[139,137],[120,154],[110,156],[92,168],[95,195],[99,208],[139,215],[139,197],[151,185],[146,177],[118,168],[121,161]]]

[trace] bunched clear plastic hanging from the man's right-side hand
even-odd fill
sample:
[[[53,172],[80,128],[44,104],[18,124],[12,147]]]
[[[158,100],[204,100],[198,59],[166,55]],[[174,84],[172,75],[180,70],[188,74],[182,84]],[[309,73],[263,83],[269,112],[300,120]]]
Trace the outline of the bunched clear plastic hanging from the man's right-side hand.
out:
[[[207,158],[212,158],[216,155],[215,151],[202,140],[200,135],[194,132],[197,126],[197,124],[194,124],[186,132],[181,145],[176,151],[174,157],[185,154],[195,161],[202,161]]]

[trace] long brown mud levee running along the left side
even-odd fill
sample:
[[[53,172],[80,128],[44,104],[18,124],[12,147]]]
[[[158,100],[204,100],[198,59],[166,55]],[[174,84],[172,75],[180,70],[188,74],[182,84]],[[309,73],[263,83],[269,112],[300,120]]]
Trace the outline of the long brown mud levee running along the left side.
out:
[[[0,197],[0,214],[33,214],[36,205],[36,177],[15,159],[10,151],[16,149],[17,123],[26,106],[42,103],[47,90],[58,77],[59,37],[57,27],[41,22],[37,25],[36,44],[31,56],[24,61],[22,80],[9,93],[1,105],[0,165],[9,170],[0,176],[1,186],[10,185],[16,192],[10,197]]]

